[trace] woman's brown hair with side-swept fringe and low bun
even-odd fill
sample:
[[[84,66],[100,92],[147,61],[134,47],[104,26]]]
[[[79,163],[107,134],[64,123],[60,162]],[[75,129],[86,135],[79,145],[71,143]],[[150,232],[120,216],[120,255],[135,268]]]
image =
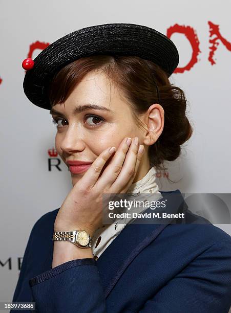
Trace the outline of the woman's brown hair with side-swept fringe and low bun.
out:
[[[149,146],[148,155],[151,166],[165,170],[163,162],[177,159],[180,145],[190,139],[193,132],[185,115],[184,92],[171,84],[166,73],[152,61],[136,56],[95,55],[69,63],[54,76],[49,90],[51,106],[63,103],[76,83],[91,71],[101,71],[112,79],[129,101],[135,121],[141,127],[144,126],[139,114],[145,113],[153,103],[163,107],[164,128],[158,140]]]

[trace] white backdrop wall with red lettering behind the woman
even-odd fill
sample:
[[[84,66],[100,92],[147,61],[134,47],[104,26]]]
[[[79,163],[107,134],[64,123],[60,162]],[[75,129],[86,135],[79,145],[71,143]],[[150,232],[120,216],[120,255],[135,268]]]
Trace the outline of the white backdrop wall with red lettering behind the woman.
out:
[[[49,170],[49,162],[57,164],[59,158],[48,153],[54,147],[56,132],[48,110],[33,105],[23,92],[22,61],[28,57],[30,45],[39,41],[44,47],[72,31],[104,23],[141,24],[163,34],[178,30],[171,39],[180,55],[178,68],[186,66],[186,70],[174,73],[171,82],[186,94],[194,133],[183,146],[181,157],[167,163],[169,177],[181,180],[169,184],[160,173],[157,183],[162,191],[229,193],[231,4],[213,0],[0,3],[0,302],[4,302],[12,300],[18,264],[32,226],[41,215],[59,208],[72,188],[64,163],[60,170],[55,166]],[[214,44],[209,42],[214,39]],[[212,46],[214,55],[209,56]],[[34,50],[32,58],[40,51]],[[193,64],[187,66],[190,61]],[[217,226],[231,234],[230,225]]]

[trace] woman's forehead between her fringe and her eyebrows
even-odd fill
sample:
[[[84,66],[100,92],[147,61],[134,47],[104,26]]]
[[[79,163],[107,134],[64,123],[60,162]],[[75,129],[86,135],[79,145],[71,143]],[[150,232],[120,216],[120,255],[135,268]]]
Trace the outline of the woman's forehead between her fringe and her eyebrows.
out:
[[[84,106],[84,107],[83,107]],[[75,86],[64,105],[56,104],[53,110],[70,110],[80,113],[83,109],[101,107],[105,113],[128,114],[130,107],[118,90],[114,82],[101,72],[90,72]],[[74,110],[74,111],[73,111]]]

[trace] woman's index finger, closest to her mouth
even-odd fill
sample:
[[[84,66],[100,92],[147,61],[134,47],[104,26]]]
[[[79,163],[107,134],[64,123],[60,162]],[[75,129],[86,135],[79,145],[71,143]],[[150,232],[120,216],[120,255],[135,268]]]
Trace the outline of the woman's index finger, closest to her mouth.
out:
[[[114,149],[113,149],[114,148]],[[80,189],[89,190],[91,189],[98,180],[98,177],[101,173],[103,166],[106,162],[112,157],[113,153],[116,151],[115,147],[107,148],[103,150],[97,159],[92,163],[91,167],[86,171],[85,175],[81,178],[81,186]],[[79,182],[80,182],[79,181]],[[77,184],[76,184],[77,185]],[[78,186],[79,188],[79,186]]]

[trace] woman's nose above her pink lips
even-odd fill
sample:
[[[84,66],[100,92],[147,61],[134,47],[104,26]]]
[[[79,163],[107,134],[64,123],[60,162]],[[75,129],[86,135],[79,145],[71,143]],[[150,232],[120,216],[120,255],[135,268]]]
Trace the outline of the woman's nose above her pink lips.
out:
[[[83,136],[74,125],[68,127],[68,130],[61,140],[60,149],[68,154],[85,149]]]

